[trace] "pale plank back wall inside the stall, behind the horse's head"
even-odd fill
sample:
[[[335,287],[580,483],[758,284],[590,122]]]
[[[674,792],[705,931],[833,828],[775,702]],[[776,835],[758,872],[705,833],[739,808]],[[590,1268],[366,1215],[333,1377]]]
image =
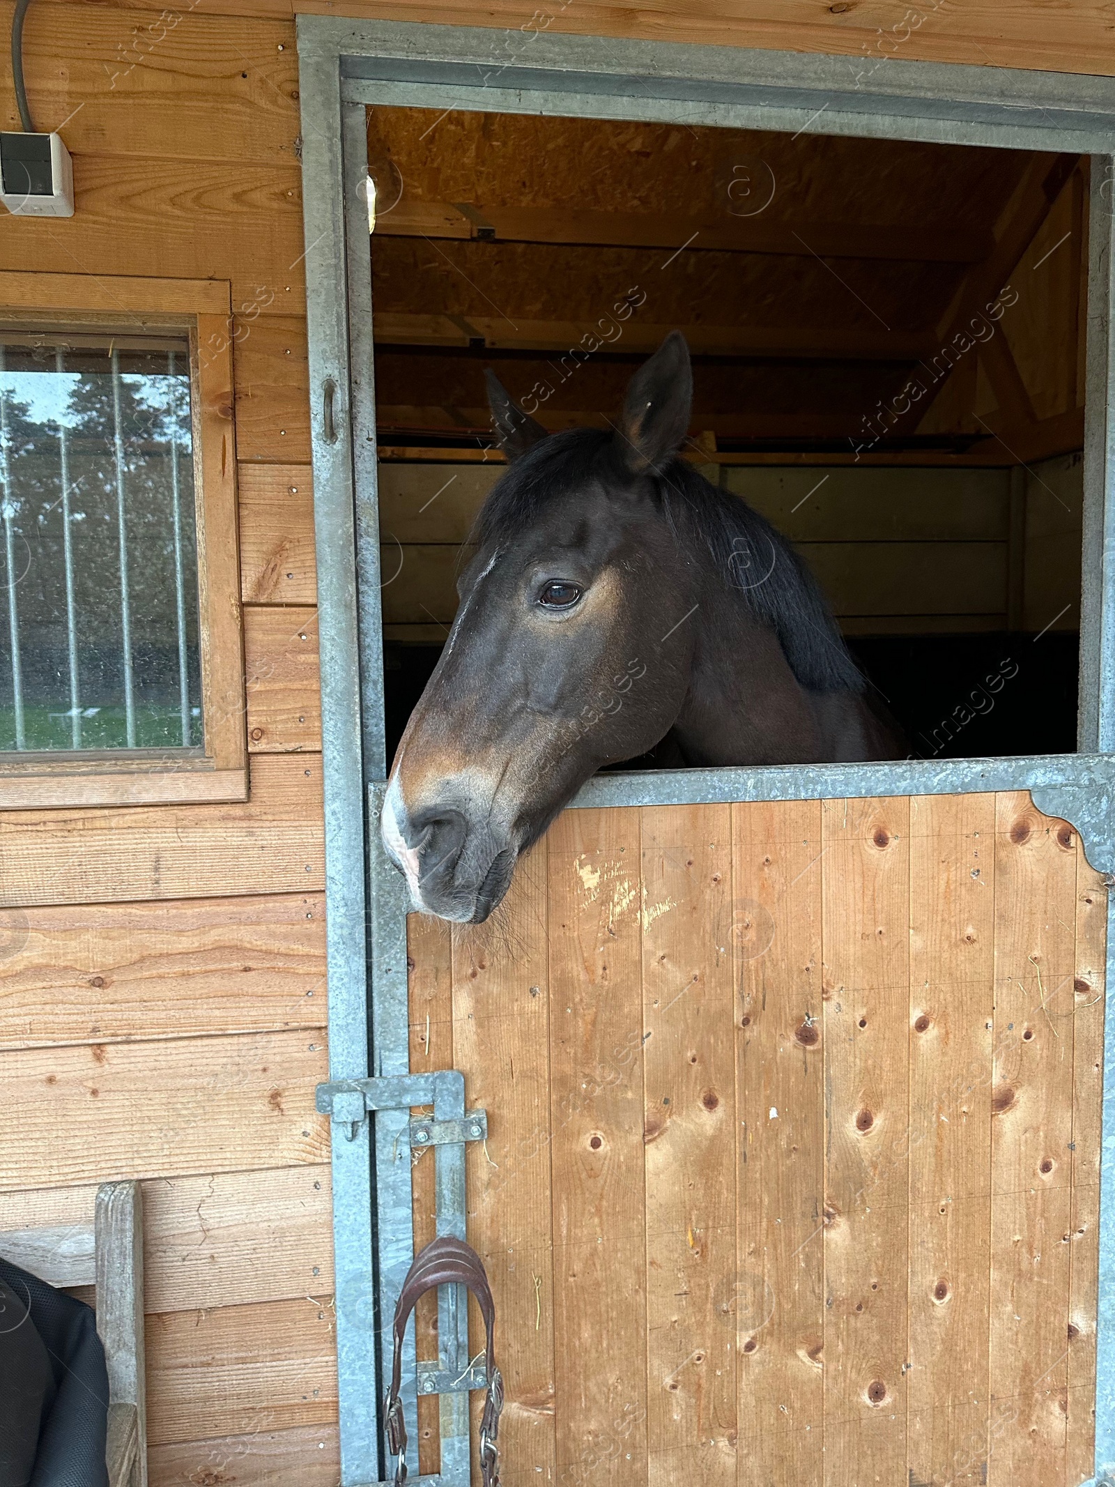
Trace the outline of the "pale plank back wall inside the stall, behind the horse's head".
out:
[[[381,464],[384,620],[440,644],[461,543],[502,464]],[[1082,462],[1005,468],[706,465],[798,547],[846,635],[1079,628]]]

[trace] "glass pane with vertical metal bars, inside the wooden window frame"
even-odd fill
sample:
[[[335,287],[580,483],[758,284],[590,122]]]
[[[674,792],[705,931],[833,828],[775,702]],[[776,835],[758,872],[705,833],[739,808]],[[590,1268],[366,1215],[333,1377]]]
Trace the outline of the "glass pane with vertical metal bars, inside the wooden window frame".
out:
[[[0,342],[0,751],[198,749],[189,342]]]

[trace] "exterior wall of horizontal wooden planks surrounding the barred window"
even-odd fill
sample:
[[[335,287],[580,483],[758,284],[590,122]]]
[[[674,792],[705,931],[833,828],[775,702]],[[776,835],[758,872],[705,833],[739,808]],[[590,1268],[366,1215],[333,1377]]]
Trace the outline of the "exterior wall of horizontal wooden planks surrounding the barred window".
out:
[[[0,28],[12,6],[0,6]],[[155,12],[158,16],[158,10]],[[77,213],[7,268],[232,281],[244,804],[0,816],[0,1228],[144,1179],[155,1487],[337,1478],[320,702],[290,15],[43,4]],[[4,94],[4,110],[10,89]],[[4,128],[7,119],[4,116]]]

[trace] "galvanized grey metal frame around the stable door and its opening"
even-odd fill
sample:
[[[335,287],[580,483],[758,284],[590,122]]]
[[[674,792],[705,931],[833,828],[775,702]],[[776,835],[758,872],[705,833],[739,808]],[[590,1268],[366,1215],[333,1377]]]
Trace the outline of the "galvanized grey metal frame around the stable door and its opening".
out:
[[[565,9],[568,0],[558,7]],[[409,1075],[401,877],[375,821],[387,773],[367,204],[369,104],[541,113],[923,140],[1093,156],[1084,452],[1079,748],[1076,755],[914,760],[610,775],[574,806],[815,800],[1030,790],[1115,870],[1115,79],[940,62],[620,42],[299,15],[302,186],[326,791],[332,1081]],[[1115,983],[1115,913],[1108,920]],[[375,1060],[375,1062],[373,1062]],[[1108,998],[1096,1477],[1115,1483],[1115,996]],[[333,1215],[343,1487],[378,1483],[378,1328],[412,1255],[407,1111],[333,1108]],[[342,1100],[343,1105],[343,1100]],[[372,1109],[369,1096],[369,1109]],[[354,1118],[358,1117],[358,1118]],[[409,1145],[406,1146],[409,1157]],[[456,1148],[453,1148],[456,1149]],[[461,1148],[462,1149],[462,1148]],[[439,1164],[452,1199],[458,1164]],[[461,1166],[462,1170],[462,1166]],[[461,1219],[462,1222],[462,1219]],[[379,1298],[376,1303],[376,1297]],[[445,1303],[443,1303],[445,1306]],[[445,1320],[445,1310],[443,1310]],[[455,1323],[453,1323],[455,1328]],[[453,1337],[456,1332],[453,1331]],[[406,1408],[415,1436],[409,1334]],[[390,1353],[387,1353],[390,1358]],[[467,1395],[442,1396],[443,1487],[467,1487]]]

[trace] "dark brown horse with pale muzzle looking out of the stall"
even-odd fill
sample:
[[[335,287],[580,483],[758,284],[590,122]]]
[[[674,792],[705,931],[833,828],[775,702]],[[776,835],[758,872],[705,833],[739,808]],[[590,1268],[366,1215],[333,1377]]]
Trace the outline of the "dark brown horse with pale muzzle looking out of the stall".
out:
[[[803,561],[679,457],[679,332],[607,430],[547,434],[486,378],[508,467],[381,815],[415,909],[480,923],[584,781],[651,751],[678,767],[902,757]]]

